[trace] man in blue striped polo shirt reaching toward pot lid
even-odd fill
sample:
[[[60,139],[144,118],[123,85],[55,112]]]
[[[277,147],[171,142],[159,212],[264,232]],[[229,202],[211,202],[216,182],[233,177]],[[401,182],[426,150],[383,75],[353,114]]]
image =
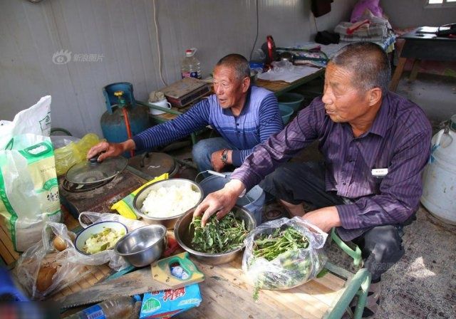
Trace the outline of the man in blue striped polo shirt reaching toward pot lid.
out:
[[[239,54],[220,59],[214,68],[214,95],[169,122],[150,127],[122,143],[100,142],[87,157],[107,157],[128,150],[166,145],[211,125],[222,137],[199,141],[192,150],[199,171],[221,172],[227,165],[239,167],[254,147],[280,132],[283,122],[277,99],[269,90],[250,83],[249,62]]]

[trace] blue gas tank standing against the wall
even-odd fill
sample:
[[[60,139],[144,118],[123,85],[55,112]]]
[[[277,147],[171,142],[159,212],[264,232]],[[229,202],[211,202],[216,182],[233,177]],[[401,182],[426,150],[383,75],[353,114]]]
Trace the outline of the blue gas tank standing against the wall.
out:
[[[128,140],[128,126],[130,126],[131,136],[150,127],[149,110],[145,106],[136,104],[131,83],[106,85],[103,88],[103,95],[107,110],[101,116],[100,125],[103,136],[108,142],[119,143]],[[125,123],[125,114],[128,117],[128,124]],[[129,155],[125,154],[125,156]]]

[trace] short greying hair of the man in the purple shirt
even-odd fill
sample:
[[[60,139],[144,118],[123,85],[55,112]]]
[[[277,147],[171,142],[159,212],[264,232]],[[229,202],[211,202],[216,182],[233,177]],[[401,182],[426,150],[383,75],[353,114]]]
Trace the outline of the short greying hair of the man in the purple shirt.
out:
[[[344,46],[331,59],[336,66],[341,66],[353,73],[353,85],[367,91],[380,88],[388,91],[391,78],[391,66],[383,48],[373,42],[355,42]]]

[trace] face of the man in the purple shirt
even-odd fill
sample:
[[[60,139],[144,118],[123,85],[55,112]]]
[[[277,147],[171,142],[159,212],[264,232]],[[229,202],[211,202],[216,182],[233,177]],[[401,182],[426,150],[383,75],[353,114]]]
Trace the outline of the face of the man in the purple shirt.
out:
[[[322,100],[333,122],[353,122],[369,110],[367,94],[356,88],[352,78],[353,71],[328,63]]]

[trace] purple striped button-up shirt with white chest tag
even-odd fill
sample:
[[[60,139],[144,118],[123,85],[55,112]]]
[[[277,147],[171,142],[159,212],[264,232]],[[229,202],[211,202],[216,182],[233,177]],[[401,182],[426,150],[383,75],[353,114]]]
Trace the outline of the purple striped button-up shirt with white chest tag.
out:
[[[250,189],[318,139],[326,162],[326,191],[351,200],[336,206],[342,224],[338,234],[348,241],[373,226],[401,224],[418,209],[430,138],[423,110],[395,93],[385,95],[371,129],[356,138],[351,126],[333,122],[316,98],[284,130],[258,145],[232,179]],[[378,177],[372,169],[388,173]]]

